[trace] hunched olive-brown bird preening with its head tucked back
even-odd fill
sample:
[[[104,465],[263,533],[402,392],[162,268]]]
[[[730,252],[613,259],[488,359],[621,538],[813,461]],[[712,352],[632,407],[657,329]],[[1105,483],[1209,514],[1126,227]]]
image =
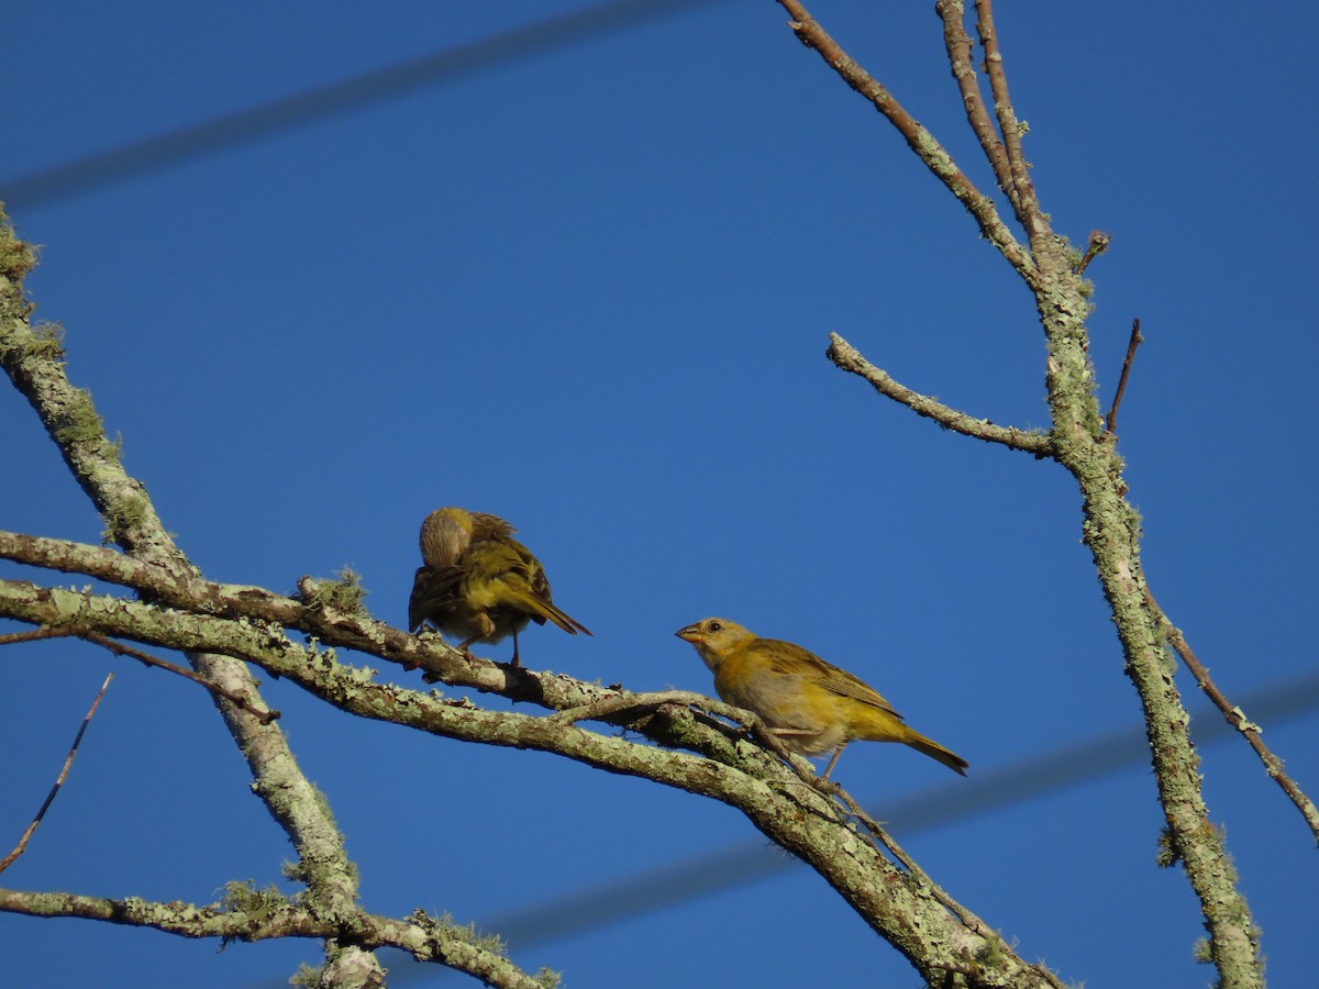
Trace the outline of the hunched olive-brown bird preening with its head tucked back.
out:
[[[513,637],[513,666],[521,666],[517,633],[529,621],[553,621],[570,636],[591,630],[554,605],[545,568],[513,538],[499,516],[442,508],[421,524],[422,566],[408,600],[408,628],[429,621],[458,636],[464,653],[474,642]]]

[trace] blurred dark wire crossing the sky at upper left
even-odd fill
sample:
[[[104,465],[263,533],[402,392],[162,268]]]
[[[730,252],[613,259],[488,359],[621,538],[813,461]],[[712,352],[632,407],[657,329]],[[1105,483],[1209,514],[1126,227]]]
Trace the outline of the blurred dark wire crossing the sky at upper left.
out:
[[[0,202],[32,210],[215,152],[307,127],[430,86],[522,62],[719,0],[615,0],[445,49],[269,103],[0,182]]]

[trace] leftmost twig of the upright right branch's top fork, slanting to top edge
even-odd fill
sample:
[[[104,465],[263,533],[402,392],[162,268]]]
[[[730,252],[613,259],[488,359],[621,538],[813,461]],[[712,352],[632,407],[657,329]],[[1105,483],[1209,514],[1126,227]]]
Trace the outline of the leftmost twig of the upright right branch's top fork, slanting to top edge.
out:
[[[1041,282],[1035,260],[1030,251],[1012,236],[1012,231],[998,216],[993,199],[976,187],[975,182],[954,164],[952,156],[935,136],[926,131],[882,83],[852,61],[798,0],[778,0],[778,3],[793,18],[789,26],[797,38],[807,47],[814,49],[839,74],[843,82],[869,100],[897,128],[897,132],[902,135],[917,157],[925,162],[925,166],[971,212],[985,240],[998,248],[1000,253],[1026,281],[1026,285],[1038,289]]]

